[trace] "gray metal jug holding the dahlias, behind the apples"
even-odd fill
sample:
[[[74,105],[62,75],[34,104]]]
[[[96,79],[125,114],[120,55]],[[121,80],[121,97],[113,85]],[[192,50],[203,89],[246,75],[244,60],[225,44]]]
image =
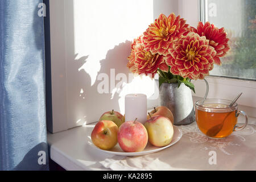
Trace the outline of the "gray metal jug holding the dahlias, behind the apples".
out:
[[[184,84],[163,83],[159,88],[160,105],[168,107],[174,115],[174,125],[188,125],[194,121],[195,110],[191,89]]]

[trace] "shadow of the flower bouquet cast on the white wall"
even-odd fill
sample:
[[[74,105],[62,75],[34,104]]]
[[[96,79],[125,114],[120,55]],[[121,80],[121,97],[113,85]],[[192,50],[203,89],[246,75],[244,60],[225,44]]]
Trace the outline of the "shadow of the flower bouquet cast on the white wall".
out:
[[[129,69],[126,65],[128,62],[127,57],[130,55],[131,51],[130,45],[131,42],[126,41],[107,52],[106,59],[100,61],[101,68],[97,73],[97,78],[99,75],[105,75],[108,78],[105,80],[102,77],[98,78],[93,85],[90,75],[86,73],[84,69],[80,69],[82,65],[86,63],[86,59],[88,59],[89,56],[83,56],[76,59],[78,56],[78,54],[76,54],[73,57],[73,60],[68,61],[67,104],[69,122],[75,122],[76,125],[79,126],[85,123],[98,121],[101,114],[105,111],[112,109],[120,111],[118,100],[121,97],[120,94],[115,91],[117,89],[117,83],[121,84],[119,89],[122,89],[122,84],[124,82],[127,83],[128,79],[115,80],[115,78],[110,77],[110,72],[113,69],[113,76],[118,75],[118,73],[123,73],[127,78],[129,77]],[[102,84],[104,81],[105,85]],[[100,92],[98,89],[100,89]],[[106,93],[101,93],[102,90],[105,90]]]

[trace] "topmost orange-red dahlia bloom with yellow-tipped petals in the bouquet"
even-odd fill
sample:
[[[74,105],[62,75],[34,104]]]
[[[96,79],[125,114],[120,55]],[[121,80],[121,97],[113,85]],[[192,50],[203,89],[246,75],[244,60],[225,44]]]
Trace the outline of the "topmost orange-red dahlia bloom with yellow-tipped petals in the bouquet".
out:
[[[168,18],[160,14],[159,18],[155,19],[155,22],[150,24],[143,33],[146,51],[166,56],[172,42],[187,34],[188,24],[185,22],[183,18],[180,19],[180,16],[176,17],[173,13]]]

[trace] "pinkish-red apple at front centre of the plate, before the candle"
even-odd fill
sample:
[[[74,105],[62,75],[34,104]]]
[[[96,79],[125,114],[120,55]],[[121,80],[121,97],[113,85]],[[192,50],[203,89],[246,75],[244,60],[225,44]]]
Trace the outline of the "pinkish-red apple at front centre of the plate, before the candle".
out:
[[[117,135],[119,146],[125,152],[140,152],[147,145],[147,130],[142,123],[127,121],[119,127]]]

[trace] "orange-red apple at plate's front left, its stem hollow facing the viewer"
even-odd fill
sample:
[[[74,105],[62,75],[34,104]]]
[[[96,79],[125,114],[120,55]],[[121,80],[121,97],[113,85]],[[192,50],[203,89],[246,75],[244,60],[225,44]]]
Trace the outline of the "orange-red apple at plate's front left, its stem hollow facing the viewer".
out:
[[[117,144],[118,126],[113,121],[99,121],[91,134],[92,142],[102,150],[110,150]]]

